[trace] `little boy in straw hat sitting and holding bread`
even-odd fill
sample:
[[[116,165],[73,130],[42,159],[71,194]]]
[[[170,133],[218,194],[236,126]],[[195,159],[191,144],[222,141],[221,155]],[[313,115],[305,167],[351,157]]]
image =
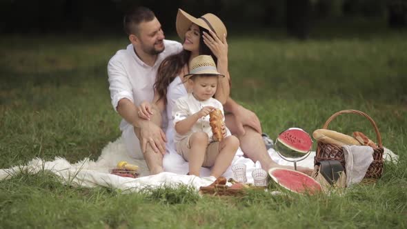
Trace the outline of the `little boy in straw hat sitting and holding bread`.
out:
[[[184,76],[192,92],[177,99],[172,109],[177,152],[189,162],[190,175],[199,176],[199,169],[203,166],[212,167],[210,175],[220,177],[239,148],[237,137],[226,136],[225,126],[224,139],[217,141],[209,124],[210,111],[219,109],[224,115],[222,104],[213,98],[218,77],[224,75],[217,72],[212,57],[200,55],[192,59],[190,74]]]

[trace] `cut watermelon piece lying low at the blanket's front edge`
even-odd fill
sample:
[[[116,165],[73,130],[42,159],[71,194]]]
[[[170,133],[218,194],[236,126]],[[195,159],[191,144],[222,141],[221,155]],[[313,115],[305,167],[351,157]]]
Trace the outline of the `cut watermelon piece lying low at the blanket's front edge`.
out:
[[[268,174],[273,181],[292,192],[315,194],[322,191],[318,181],[302,172],[286,168],[270,168]]]

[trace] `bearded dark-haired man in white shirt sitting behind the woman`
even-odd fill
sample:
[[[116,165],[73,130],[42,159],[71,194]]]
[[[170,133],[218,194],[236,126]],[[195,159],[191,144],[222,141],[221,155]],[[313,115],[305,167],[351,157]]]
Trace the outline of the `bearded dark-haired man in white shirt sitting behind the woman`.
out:
[[[166,136],[160,126],[166,128],[166,115],[161,115],[160,109],[153,106],[151,119],[140,119],[137,106],[142,101],[152,101],[157,68],[170,54],[180,52],[182,46],[164,39],[161,24],[148,8],[128,12],[124,17],[124,29],[131,44],[126,50],[119,50],[108,63],[112,106],[123,117],[120,130],[128,153],[146,159],[150,173],[157,174],[163,172]],[[226,117],[226,126],[239,138],[245,155],[253,161],[260,161],[266,170],[277,166],[264,146],[255,113],[230,98],[225,109],[232,113]]]

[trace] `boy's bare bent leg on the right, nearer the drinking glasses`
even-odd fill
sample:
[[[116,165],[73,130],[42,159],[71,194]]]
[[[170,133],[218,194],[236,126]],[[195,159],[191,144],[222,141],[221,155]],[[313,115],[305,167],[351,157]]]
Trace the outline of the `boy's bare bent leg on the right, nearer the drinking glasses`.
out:
[[[239,139],[233,135],[226,137],[219,143],[219,155],[210,171],[211,176],[218,178],[224,174],[232,163],[237,148],[239,148]]]

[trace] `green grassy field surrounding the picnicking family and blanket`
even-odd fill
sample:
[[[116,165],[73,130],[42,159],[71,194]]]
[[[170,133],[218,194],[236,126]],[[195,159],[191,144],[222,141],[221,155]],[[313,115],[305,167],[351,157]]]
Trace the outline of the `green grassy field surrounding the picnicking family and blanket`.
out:
[[[21,174],[0,181],[0,228],[407,228],[407,33],[268,37],[230,37],[232,97],[257,112],[272,137],[292,126],[312,132],[339,110],[368,113],[400,159],[385,163],[377,183],[344,195],[219,199],[188,187],[124,195],[64,186],[48,172]],[[126,44],[1,37],[0,168],[34,157],[97,159],[120,135],[106,64]],[[357,115],[341,115],[329,128],[376,139]]]

